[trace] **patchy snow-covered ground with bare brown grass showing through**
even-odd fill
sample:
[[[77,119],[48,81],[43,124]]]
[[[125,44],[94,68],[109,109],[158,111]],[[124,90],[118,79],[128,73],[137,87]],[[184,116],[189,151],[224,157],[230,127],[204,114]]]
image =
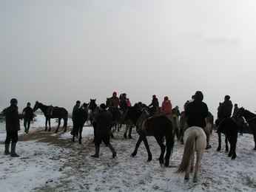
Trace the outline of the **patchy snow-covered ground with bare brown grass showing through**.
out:
[[[100,158],[92,158],[94,145],[91,127],[84,127],[82,145],[71,142],[70,128],[63,133],[44,132],[44,117],[37,117],[29,134],[21,123],[17,145],[18,158],[4,156],[5,131],[0,128],[0,189],[1,191],[255,191],[256,151],[251,134],[238,136],[236,160],[218,152],[217,134],[211,137],[212,148],[205,151],[198,174],[198,183],[184,183],[184,174],[175,171],[181,162],[183,145],[175,143],[170,167],[158,163],[160,148],[148,137],[152,162],[146,162],[144,144],[136,157],[130,157],[138,135],[124,139],[124,128],[111,140],[118,152],[112,159],[109,148],[101,145]],[[71,120],[70,126],[71,125]],[[53,120],[55,122],[55,120]],[[56,126],[56,124],[54,125]],[[61,130],[61,128],[60,128]]]

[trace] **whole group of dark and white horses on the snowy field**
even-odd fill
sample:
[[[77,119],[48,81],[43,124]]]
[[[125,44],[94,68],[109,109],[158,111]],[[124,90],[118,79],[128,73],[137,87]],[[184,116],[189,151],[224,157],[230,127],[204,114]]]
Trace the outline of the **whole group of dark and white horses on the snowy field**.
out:
[[[110,100],[107,99],[106,105],[109,112],[112,113],[113,121],[113,130],[120,125],[126,125],[129,131],[129,138],[131,136],[132,127],[136,128],[136,131],[139,135],[138,142],[135,145],[135,150],[132,152],[132,157],[135,157],[137,154],[138,148],[141,145],[141,142],[144,142],[146,151],[148,154],[147,161],[152,160],[152,154],[149,149],[149,143],[146,139],[147,136],[155,137],[158,145],[161,148],[161,154],[159,157],[159,163],[166,167],[169,166],[169,158],[173,151],[175,135],[178,142],[184,143],[183,158],[181,165],[178,168],[178,173],[186,172],[185,180],[189,179],[189,172],[194,169],[194,159],[195,153],[197,154],[196,163],[195,163],[195,174],[193,177],[193,182],[198,181],[198,169],[201,165],[201,160],[203,158],[203,152],[206,149],[206,134],[202,128],[199,127],[190,127],[186,126],[186,117],[184,114],[181,115],[180,121],[178,117],[173,115],[171,118],[167,117],[164,114],[149,115],[149,107],[143,103],[135,103],[134,106],[128,107],[124,112],[121,112],[118,108],[110,107]],[[50,112],[49,112],[50,107]],[[42,103],[36,101],[36,104],[33,108],[33,111],[36,112],[37,109],[41,109],[46,117],[45,131],[47,131],[47,122],[49,122],[50,131],[50,118],[58,118],[58,128],[61,125],[61,119],[64,119],[64,131],[67,131],[67,110],[61,107],[45,106]],[[90,111],[90,114],[89,114]],[[73,117],[74,123],[78,127],[79,133],[79,143],[81,143],[81,132],[86,123],[88,117],[90,118],[91,124],[94,128],[94,136],[96,134],[97,123],[94,120],[94,117],[99,112],[99,106],[96,104],[96,100],[90,100],[90,103],[84,103],[81,105],[79,111]],[[235,117],[230,117],[222,120],[216,131],[219,135],[219,145],[218,151],[221,148],[221,137],[220,133],[225,134],[226,136],[226,151],[229,151],[227,143],[230,143],[229,157],[232,157],[232,160],[236,158],[235,148],[238,137],[238,130],[243,122],[243,118],[249,123],[249,128],[252,130],[252,134],[255,140],[255,150],[256,150],[256,114],[247,111],[246,109],[240,108]],[[213,127],[213,116],[209,113],[209,116],[206,118],[207,130],[212,132]],[[55,133],[58,132],[58,128]],[[126,137],[127,129],[124,134]],[[112,135],[113,137],[113,135]],[[164,140],[165,144],[164,145]],[[73,142],[75,142],[75,134],[73,134]]]

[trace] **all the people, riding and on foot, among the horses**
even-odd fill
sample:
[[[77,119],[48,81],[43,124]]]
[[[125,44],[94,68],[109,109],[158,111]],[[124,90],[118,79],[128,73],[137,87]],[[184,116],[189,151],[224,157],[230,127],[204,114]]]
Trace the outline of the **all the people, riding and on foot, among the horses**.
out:
[[[128,106],[131,106],[129,99],[126,94],[121,94],[120,97],[117,97],[117,93],[113,92],[110,103],[110,107],[115,107],[122,111],[126,110]],[[78,111],[81,102],[78,100],[73,108],[73,114]],[[156,95],[152,96],[152,103],[149,104],[150,112],[155,114],[157,109],[159,108],[159,102]],[[215,121],[216,125],[220,123],[226,117],[231,117],[232,115],[232,101],[230,100],[229,95],[224,97],[223,103],[220,103],[218,107],[218,119]],[[97,131],[95,137],[95,154],[92,157],[99,157],[99,148],[100,144],[103,141],[107,147],[112,151],[112,157],[116,157],[115,148],[110,144],[110,131],[112,128],[112,114],[107,110],[107,106],[104,103],[101,103],[99,106],[100,112],[95,116],[95,122],[97,123]],[[184,105],[185,114],[187,117],[187,125],[198,126],[203,128],[206,133],[206,148],[210,148],[209,145],[209,130],[206,128],[206,117],[208,116],[208,106],[203,102],[203,93],[198,91],[195,92],[195,95],[192,96],[192,100],[189,100]],[[238,104],[235,104],[235,110],[238,109]],[[234,114],[235,114],[234,110]],[[178,110],[178,106],[175,106],[172,109],[172,103],[169,100],[169,97],[164,97],[164,101],[161,105],[161,111],[166,114],[168,117],[169,114],[176,114],[180,116],[181,113]],[[234,115],[233,114],[233,115]],[[19,120],[24,118],[24,131],[28,133],[30,129],[30,121],[33,120],[33,109],[31,108],[31,104],[27,103],[27,107],[24,108],[22,114],[18,114],[18,100],[13,98],[10,100],[10,106],[7,108],[6,113],[6,131],[7,137],[5,140],[5,150],[4,154],[9,155],[11,157],[19,157],[16,154],[16,143],[18,142],[18,131],[21,130]],[[74,116],[72,117],[74,118]],[[74,122],[74,121],[73,121]],[[75,126],[75,125],[74,125]],[[11,143],[11,151],[10,151],[10,142]]]

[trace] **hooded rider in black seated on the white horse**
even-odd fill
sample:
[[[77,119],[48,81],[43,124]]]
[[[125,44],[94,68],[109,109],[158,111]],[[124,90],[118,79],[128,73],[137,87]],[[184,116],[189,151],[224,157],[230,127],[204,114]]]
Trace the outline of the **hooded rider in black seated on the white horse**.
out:
[[[195,98],[193,102],[188,103],[186,106],[185,114],[187,116],[187,125],[189,127],[198,126],[203,128],[206,134],[206,149],[211,148],[209,145],[210,132],[206,127],[206,117],[208,116],[208,106],[203,103],[203,93],[198,91],[195,92]]]

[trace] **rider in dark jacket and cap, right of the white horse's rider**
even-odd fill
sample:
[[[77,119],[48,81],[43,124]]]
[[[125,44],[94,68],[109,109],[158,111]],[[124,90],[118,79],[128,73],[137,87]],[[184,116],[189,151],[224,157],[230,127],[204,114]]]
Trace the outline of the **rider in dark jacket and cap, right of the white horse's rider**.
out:
[[[225,119],[226,117],[231,116],[232,108],[233,108],[233,104],[232,104],[232,101],[230,100],[230,96],[226,95],[224,97],[224,102],[220,103],[220,106],[218,107],[218,123],[220,123],[220,121]]]

